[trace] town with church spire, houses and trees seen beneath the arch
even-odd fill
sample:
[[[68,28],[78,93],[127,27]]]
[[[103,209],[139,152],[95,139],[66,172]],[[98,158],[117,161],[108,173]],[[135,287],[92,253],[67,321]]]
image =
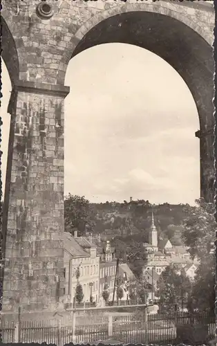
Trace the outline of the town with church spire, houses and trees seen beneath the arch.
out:
[[[64,304],[142,304],[145,291],[149,313],[211,307],[214,292],[209,290],[213,298],[203,301],[198,282],[206,291],[214,277],[207,284],[201,281],[200,248],[194,248],[197,239],[192,238],[195,226],[200,234],[201,217],[210,224],[212,216],[206,208],[202,201],[193,207],[156,206],[132,197],[123,203],[93,204],[69,194],[65,199]],[[200,215],[196,222],[195,213]],[[210,241],[207,251],[214,258],[212,248]]]

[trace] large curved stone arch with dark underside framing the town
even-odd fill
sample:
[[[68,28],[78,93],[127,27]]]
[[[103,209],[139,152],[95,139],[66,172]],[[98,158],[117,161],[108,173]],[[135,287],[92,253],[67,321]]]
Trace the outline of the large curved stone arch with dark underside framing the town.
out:
[[[210,200],[212,199],[210,195],[213,193],[210,179],[213,178],[214,172],[212,147],[214,137],[211,133],[214,127],[212,38],[209,28],[206,34],[205,30],[202,33],[198,24],[190,23],[191,16],[185,18],[182,13],[168,9],[167,6],[156,6],[155,3],[141,6],[124,4],[93,16],[77,30],[69,45],[71,50],[67,49],[64,53],[57,83],[64,83],[66,67],[71,57],[99,44],[111,42],[133,44],[162,57],[185,80],[196,102],[200,120],[198,136],[201,156],[201,196]]]

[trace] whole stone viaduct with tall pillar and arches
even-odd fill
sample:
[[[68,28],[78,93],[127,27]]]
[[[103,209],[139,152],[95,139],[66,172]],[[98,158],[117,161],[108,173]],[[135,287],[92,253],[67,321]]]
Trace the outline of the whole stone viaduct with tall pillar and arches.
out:
[[[200,119],[201,194],[214,196],[214,9],[157,1],[3,3],[3,54],[12,94],[3,217],[3,312],[61,307],[64,229],[64,86],[70,59],[91,46],[134,44],[158,54],[185,80]],[[48,1],[49,3],[49,1]],[[75,86],[76,87],[76,86]],[[135,92],[135,91],[132,91]],[[181,97],[181,95],[180,95]]]

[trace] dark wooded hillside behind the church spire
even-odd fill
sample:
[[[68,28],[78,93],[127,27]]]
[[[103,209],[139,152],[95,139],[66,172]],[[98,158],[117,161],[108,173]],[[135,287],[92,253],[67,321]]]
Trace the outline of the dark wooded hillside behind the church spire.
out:
[[[148,241],[152,211],[158,236],[178,238],[185,219],[185,205],[181,204],[164,203],[156,206],[149,201],[124,201],[91,203],[90,206],[94,215],[93,233],[100,233],[108,239],[131,235],[137,238],[142,236]]]

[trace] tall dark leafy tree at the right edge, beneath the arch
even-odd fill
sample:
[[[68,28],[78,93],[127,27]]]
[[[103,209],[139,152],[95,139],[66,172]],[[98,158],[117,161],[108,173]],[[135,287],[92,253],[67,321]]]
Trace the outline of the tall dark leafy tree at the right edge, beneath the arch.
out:
[[[186,206],[187,217],[182,237],[189,246],[192,258],[197,257],[200,264],[196,271],[195,283],[191,293],[191,307],[210,308],[215,304],[215,255],[216,220],[214,203],[204,199],[196,200],[196,206]]]

